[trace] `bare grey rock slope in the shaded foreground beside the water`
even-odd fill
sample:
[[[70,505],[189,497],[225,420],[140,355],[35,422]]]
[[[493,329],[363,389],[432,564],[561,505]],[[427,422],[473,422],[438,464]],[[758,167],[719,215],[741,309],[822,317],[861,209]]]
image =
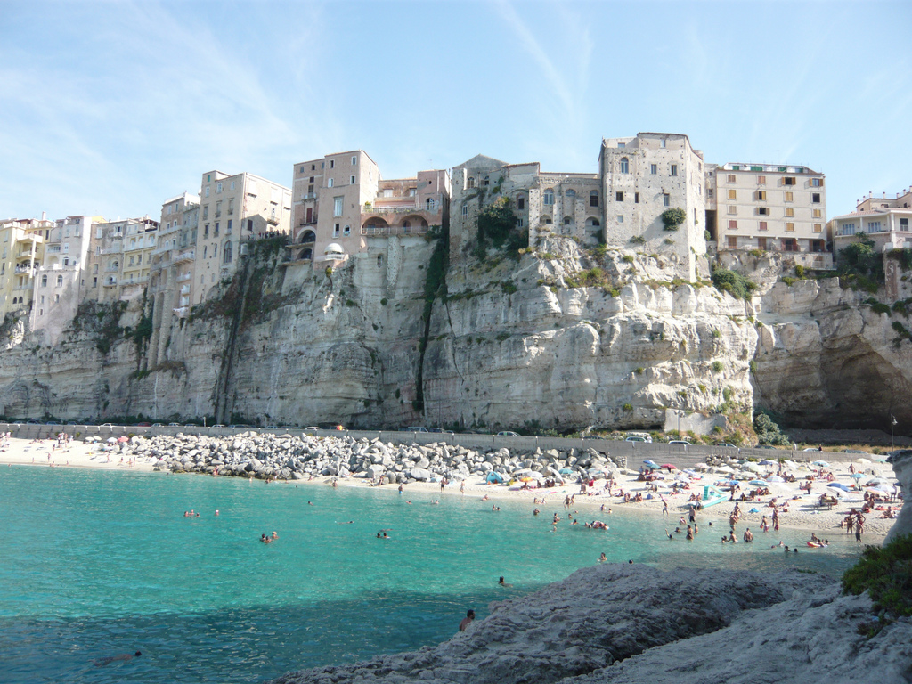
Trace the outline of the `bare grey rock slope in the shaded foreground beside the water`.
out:
[[[492,604],[437,647],[273,684],[910,681],[912,618],[861,635],[871,621],[870,599],[822,575],[601,565]]]

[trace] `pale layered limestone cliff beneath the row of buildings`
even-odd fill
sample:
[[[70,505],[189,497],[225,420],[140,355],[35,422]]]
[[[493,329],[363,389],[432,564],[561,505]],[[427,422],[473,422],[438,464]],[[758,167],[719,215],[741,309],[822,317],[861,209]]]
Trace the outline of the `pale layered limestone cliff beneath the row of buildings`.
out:
[[[369,241],[326,270],[254,249],[189,318],[83,310],[56,347],[12,329],[0,414],[563,429],[759,403],[873,424],[909,382],[895,316],[835,281],[767,286],[749,304],[680,282],[658,255],[562,238],[451,264],[444,280],[435,240]]]

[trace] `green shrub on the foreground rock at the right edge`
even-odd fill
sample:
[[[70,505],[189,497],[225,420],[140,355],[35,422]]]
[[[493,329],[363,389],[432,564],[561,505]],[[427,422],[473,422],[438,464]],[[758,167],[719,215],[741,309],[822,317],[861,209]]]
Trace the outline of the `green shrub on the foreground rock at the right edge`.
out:
[[[876,611],[912,616],[912,534],[883,548],[867,546],[861,560],[845,571],[843,592],[857,596],[865,591]]]

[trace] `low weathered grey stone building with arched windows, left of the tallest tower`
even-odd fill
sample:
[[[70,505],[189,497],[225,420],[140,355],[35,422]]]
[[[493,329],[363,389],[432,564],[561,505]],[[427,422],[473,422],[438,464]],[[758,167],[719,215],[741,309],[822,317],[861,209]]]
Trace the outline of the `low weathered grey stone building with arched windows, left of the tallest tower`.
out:
[[[507,198],[529,232],[529,244],[549,235],[576,237],[586,244],[603,241],[601,182],[596,173],[549,173],[537,161],[508,164],[482,154],[452,170],[450,258],[465,254],[478,234],[478,214]]]

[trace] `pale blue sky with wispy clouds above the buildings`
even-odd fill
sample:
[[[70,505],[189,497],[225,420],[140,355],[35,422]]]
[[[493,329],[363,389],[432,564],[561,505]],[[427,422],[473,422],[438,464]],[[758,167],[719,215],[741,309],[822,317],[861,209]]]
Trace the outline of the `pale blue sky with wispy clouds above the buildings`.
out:
[[[830,216],[912,184],[910,2],[0,0],[0,217],[149,213],[203,171],[289,185],[481,152],[595,172],[602,137],[804,164]]]

